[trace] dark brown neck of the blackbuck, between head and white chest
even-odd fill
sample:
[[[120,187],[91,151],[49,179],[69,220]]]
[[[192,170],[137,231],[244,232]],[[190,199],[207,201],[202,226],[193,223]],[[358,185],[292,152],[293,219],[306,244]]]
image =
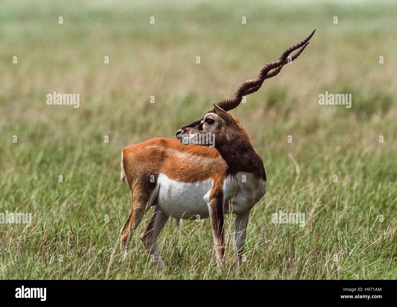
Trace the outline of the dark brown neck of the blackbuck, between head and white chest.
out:
[[[257,178],[266,180],[262,158],[260,158],[260,155],[250,141],[239,139],[235,142],[215,146],[215,148],[229,166],[229,172],[231,174],[235,175],[238,172],[246,172],[254,174]]]

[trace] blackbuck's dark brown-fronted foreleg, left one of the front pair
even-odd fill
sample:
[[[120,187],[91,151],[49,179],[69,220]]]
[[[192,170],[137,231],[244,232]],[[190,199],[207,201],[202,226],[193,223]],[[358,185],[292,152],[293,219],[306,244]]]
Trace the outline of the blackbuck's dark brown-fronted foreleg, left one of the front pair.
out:
[[[212,226],[212,235],[214,236],[216,258],[219,265],[223,266],[223,257],[225,254],[224,238],[224,206],[223,192],[221,189],[211,191],[209,208]]]

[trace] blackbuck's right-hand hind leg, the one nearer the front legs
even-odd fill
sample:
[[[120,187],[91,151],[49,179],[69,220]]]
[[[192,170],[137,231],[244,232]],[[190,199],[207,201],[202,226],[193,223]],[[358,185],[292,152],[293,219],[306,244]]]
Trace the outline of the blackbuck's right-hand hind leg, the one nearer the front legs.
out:
[[[159,267],[164,267],[164,262],[160,257],[156,242],[160,231],[168,221],[168,217],[169,216],[166,215],[159,205],[155,205],[153,215],[150,218],[150,221],[141,238],[146,252],[148,252],[149,255],[154,255],[154,261]]]

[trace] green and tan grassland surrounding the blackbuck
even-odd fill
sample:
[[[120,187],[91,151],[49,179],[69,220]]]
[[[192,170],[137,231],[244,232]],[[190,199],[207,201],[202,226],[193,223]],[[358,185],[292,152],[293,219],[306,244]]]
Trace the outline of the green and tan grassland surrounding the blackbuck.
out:
[[[393,2],[2,2],[0,212],[33,221],[0,224],[0,278],[396,279],[396,14]],[[175,138],[315,28],[293,65],[231,111],[268,176],[243,270],[233,216],[222,271],[208,220],[169,221],[156,269],[139,239],[152,210],[121,263],[121,150]],[[80,93],[80,107],[46,105],[54,91]],[[351,109],[319,105],[326,91],[351,93]],[[273,224],[279,210],[305,213],[305,227]]]

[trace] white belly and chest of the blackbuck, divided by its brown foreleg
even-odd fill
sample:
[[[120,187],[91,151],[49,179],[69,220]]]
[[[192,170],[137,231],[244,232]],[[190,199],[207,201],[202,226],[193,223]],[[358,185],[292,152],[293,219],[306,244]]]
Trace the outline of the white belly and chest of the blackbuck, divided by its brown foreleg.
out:
[[[205,219],[209,216],[212,185],[212,179],[184,183],[160,174],[157,179],[157,204],[171,217],[196,219],[199,215],[200,219]],[[266,193],[266,181],[256,179],[249,173],[237,173],[235,177],[226,178],[223,191],[225,214],[243,213]]]

